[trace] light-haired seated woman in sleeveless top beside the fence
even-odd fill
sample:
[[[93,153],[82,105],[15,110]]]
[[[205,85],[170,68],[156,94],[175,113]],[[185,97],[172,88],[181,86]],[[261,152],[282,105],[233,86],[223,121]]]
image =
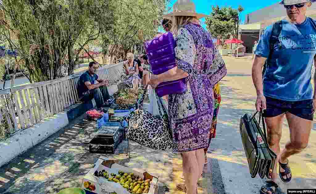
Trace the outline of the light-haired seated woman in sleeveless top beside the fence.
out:
[[[123,83],[127,84],[128,87],[131,87],[133,89],[138,88],[138,81],[140,80],[138,74],[138,64],[136,61],[134,61],[134,54],[133,53],[127,53],[127,61],[124,62],[123,69],[125,72],[122,75],[122,79],[124,80]]]

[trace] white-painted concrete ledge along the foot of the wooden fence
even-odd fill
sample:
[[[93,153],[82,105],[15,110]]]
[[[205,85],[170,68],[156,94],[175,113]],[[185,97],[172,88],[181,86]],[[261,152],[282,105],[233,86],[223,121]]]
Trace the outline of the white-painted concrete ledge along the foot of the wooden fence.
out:
[[[110,95],[113,95],[118,91],[118,86],[109,86],[108,91]],[[35,124],[33,127],[16,132],[6,141],[0,141],[0,166],[9,163],[15,157],[44,141],[50,135],[66,127],[75,118],[94,107],[94,99],[88,103],[74,104],[68,109],[65,109],[63,112]]]

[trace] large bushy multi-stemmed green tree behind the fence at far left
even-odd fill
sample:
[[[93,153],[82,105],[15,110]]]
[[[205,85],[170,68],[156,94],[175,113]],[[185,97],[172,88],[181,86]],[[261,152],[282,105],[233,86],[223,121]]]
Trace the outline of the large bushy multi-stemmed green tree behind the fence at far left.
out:
[[[7,24],[3,34],[23,56],[16,64],[23,64],[34,82],[72,74],[80,51],[97,39],[104,28],[104,21],[112,12],[108,9],[111,3],[112,0],[3,0],[0,8]],[[74,57],[75,44],[80,48]]]

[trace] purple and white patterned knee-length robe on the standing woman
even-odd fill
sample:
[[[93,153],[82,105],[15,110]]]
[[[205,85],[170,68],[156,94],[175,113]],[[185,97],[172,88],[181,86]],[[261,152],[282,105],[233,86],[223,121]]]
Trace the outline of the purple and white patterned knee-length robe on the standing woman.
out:
[[[227,69],[210,34],[200,25],[185,25],[175,39],[177,66],[189,76],[184,94],[169,95],[168,115],[173,151],[187,152],[208,147],[214,112],[213,87]]]

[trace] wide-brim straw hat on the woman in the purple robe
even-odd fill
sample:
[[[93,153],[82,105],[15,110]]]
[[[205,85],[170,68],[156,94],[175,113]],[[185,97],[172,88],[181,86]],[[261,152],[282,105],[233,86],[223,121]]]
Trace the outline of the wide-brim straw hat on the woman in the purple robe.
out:
[[[169,20],[171,20],[173,16],[192,16],[197,17],[197,19],[210,17],[209,15],[197,13],[195,7],[195,4],[191,0],[178,0],[173,4],[173,12],[161,17]]]

